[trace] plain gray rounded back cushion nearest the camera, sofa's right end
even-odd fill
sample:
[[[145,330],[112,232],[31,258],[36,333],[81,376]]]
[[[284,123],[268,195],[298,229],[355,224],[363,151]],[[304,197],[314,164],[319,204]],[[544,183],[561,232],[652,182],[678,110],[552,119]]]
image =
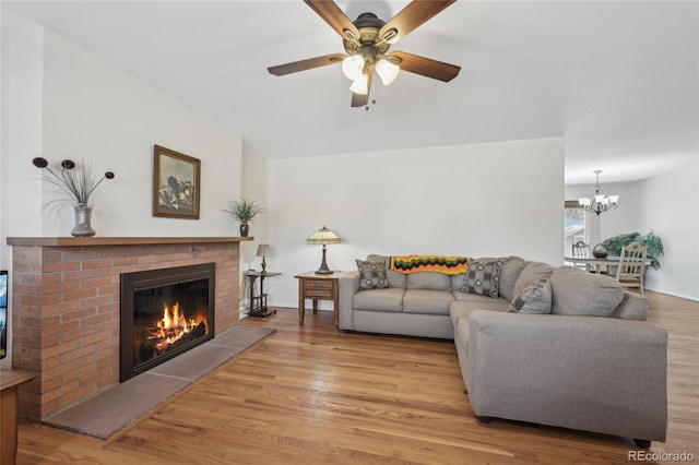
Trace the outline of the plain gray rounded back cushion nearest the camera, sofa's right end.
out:
[[[573,266],[556,269],[550,286],[555,314],[612,317],[624,300],[624,288],[616,279]]]

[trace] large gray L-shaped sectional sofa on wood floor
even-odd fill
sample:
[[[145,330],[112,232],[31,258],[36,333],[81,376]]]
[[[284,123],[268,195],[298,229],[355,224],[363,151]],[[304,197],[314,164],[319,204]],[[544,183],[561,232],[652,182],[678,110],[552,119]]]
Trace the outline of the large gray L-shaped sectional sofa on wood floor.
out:
[[[665,440],[667,333],[644,321],[645,297],[608,276],[517,257],[474,260],[490,274],[496,264],[484,288],[476,266],[469,275],[403,275],[388,269],[388,257],[366,262],[384,264],[388,287],[360,289],[358,272],[341,279],[340,329],[453,338],[482,421],[614,434],[641,446]]]

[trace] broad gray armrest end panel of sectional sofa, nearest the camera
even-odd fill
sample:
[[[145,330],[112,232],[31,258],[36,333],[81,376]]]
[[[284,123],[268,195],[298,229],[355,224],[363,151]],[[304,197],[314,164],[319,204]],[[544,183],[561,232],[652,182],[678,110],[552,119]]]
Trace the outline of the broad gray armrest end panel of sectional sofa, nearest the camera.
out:
[[[665,440],[667,332],[642,321],[474,310],[478,416]]]

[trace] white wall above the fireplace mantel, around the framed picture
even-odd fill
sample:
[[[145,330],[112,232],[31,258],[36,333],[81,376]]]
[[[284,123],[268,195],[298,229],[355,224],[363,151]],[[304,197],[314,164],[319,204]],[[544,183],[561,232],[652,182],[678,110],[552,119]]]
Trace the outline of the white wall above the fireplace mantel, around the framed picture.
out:
[[[96,174],[116,174],[91,198],[93,225],[100,236],[237,235],[221,210],[241,192],[240,134],[62,36],[40,27],[34,31],[43,35],[37,51],[40,75],[33,76],[42,86],[40,106],[26,108],[23,102],[12,102],[9,111],[10,124],[23,121],[34,129],[9,145],[7,189],[28,203],[3,205],[10,211],[5,234],[68,236],[73,226],[70,208],[40,212],[40,205],[54,199],[55,189],[40,181],[44,172],[32,165],[32,158],[43,156],[52,164],[85,159]],[[34,120],[40,116],[39,130],[28,121],[29,111]],[[201,159],[199,220],[152,215],[154,144]]]

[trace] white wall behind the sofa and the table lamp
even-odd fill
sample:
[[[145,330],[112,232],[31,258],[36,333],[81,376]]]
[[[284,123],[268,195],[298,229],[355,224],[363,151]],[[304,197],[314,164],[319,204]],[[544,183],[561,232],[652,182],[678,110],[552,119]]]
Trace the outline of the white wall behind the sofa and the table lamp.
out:
[[[561,138],[268,162],[270,303],[295,307],[294,275],[383,254],[517,254],[562,263]]]

